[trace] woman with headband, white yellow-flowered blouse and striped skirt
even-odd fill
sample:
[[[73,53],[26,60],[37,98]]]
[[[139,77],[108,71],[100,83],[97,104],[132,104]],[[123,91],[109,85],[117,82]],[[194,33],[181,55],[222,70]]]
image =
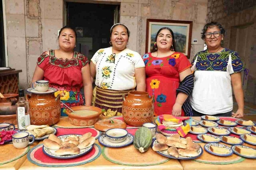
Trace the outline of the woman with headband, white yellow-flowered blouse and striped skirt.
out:
[[[123,23],[110,28],[111,47],[98,50],[91,59],[91,78],[95,78],[93,105],[121,115],[123,94],[145,91],[145,65],[139,53],[128,49],[130,32]]]

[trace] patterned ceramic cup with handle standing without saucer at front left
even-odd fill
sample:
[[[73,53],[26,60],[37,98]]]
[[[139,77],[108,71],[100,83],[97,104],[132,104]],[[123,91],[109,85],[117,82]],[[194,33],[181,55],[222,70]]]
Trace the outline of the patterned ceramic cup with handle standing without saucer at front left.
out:
[[[29,142],[29,137],[32,137],[32,142]],[[29,144],[33,144],[35,142],[35,136],[29,135],[28,132],[19,132],[12,135],[12,144],[17,149],[22,149],[27,147]]]

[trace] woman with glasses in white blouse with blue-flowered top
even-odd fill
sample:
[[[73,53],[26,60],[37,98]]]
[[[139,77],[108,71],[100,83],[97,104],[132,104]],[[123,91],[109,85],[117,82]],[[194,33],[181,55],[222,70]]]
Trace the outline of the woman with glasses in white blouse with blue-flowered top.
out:
[[[217,22],[207,23],[201,38],[207,50],[192,61],[195,85],[190,97],[193,116],[244,116],[244,94],[241,82],[243,63],[236,51],[222,47],[225,29]],[[232,88],[238,104],[233,111]]]

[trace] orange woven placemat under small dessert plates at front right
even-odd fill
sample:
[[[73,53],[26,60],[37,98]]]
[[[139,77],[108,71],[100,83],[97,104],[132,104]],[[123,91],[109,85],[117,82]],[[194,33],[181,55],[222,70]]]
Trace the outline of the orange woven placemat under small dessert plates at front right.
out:
[[[204,150],[204,145],[206,143],[199,143],[203,150]],[[225,144],[222,143],[221,144]],[[225,144],[230,147],[229,144]],[[204,150],[203,154],[201,157],[193,159],[193,161],[200,162],[200,163],[207,163],[207,164],[215,164],[215,165],[228,165],[228,164],[234,164],[234,163],[239,163],[244,161],[245,158],[238,156],[237,154],[232,154],[229,157],[220,157],[216,155],[212,155],[208,153],[207,151]]]

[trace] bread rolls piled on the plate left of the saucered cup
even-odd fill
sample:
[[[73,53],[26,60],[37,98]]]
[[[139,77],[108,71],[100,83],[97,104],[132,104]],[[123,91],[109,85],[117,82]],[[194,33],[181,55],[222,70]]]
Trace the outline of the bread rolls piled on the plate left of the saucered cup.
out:
[[[56,150],[56,155],[76,155],[80,150],[94,144],[95,138],[91,132],[82,135],[80,138],[76,135],[70,135],[68,138],[60,139],[54,134],[50,134],[48,139],[44,139],[44,146]]]

